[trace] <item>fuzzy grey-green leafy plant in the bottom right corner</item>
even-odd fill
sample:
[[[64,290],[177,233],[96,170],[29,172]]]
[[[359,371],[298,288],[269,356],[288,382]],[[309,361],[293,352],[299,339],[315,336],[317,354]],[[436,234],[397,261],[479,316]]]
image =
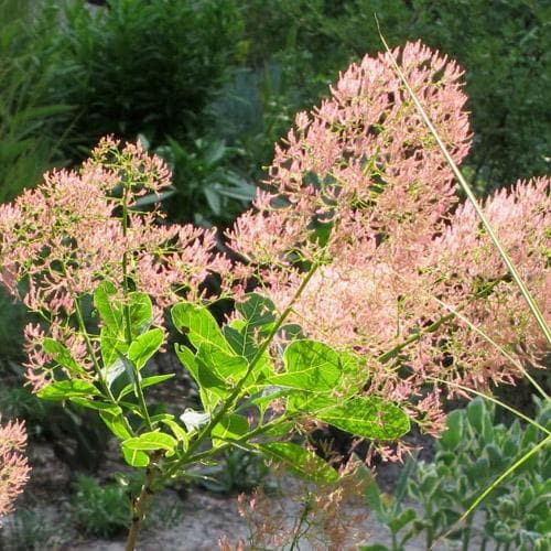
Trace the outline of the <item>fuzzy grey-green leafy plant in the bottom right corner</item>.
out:
[[[510,426],[495,422],[495,408],[482,398],[447,415],[446,430],[436,441],[434,460],[409,460],[393,496],[374,480],[368,504],[390,530],[392,543],[368,545],[365,551],[400,551],[422,536],[426,548],[435,542],[462,550],[544,550],[550,540],[551,453],[549,447],[500,484],[478,507],[478,517],[455,526],[463,511],[516,460],[529,452],[551,429],[549,401],[537,400],[537,424]],[[543,430],[541,430],[543,429]],[[413,507],[417,505],[418,507]]]

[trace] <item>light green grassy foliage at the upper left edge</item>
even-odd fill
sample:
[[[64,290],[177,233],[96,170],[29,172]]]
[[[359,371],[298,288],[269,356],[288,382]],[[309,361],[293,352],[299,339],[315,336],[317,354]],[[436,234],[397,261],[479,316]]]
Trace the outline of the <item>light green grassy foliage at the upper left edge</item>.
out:
[[[55,14],[36,2],[0,0],[0,203],[40,181],[56,155],[54,123],[71,118],[68,106],[47,98],[52,28]]]

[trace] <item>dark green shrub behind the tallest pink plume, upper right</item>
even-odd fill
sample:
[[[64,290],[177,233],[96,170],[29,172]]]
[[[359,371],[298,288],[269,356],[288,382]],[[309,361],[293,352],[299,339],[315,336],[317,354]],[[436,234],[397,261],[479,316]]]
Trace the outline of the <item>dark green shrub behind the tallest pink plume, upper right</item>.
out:
[[[549,172],[549,2],[245,0],[244,11],[248,63],[282,65],[283,106],[301,90],[283,112],[317,102],[339,69],[380,51],[377,13],[390,45],[420,39],[465,68],[476,136],[467,169],[480,192]]]

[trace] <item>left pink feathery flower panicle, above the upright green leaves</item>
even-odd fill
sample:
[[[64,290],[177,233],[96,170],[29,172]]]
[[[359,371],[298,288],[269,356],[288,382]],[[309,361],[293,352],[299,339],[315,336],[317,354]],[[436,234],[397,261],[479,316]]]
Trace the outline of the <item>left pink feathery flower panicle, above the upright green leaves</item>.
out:
[[[210,272],[228,271],[214,230],[168,226],[156,205],[139,209],[144,194],[159,196],[169,185],[159,158],[139,143],[121,147],[104,138],[79,171],[46,174],[35,190],[0,206],[0,282],[48,322],[25,329],[26,377],[35,391],[54,375],[46,337],[64,343],[82,367],[91,368],[74,323],[76,302],[101,281],[121,290],[127,277],[152,298],[155,322],[162,324],[166,306],[186,295],[198,300]]]

